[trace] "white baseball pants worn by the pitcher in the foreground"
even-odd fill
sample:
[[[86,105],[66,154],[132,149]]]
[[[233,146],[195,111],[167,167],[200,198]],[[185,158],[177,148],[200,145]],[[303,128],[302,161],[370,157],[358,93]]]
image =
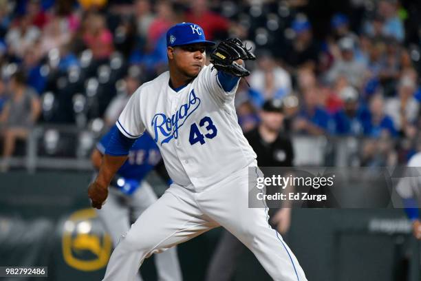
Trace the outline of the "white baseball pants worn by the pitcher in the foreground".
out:
[[[305,273],[281,235],[268,225],[266,209],[248,208],[248,167],[219,183],[197,190],[171,185],[131,225],[109,260],[104,281],[134,280],[145,258],[219,225],[255,254],[275,281],[306,281]],[[260,174],[261,175],[261,174]]]

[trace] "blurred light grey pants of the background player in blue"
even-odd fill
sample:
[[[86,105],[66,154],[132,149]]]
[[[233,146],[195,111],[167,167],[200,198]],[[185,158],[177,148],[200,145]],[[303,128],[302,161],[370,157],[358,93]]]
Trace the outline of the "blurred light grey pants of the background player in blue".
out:
[[[158,200],[151,185],[142,181],[141,186],[132,196],[125,196],[114,187],[109,188],[107,202],[101,209],[96,210],[111,236],[114,247],[118,244],[122,234],[130,229],[130,216],[138,218],[144,210]],[[156,271],[160,281],[181,281],[182,273],[177,257],[177,248],[155,255]],[[138,273],[132,280],[141,281]]]

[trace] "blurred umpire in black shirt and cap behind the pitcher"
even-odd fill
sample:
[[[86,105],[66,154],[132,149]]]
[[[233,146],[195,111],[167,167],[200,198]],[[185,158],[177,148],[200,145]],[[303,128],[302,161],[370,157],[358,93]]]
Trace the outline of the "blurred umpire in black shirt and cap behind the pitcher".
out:
[[[257,154],[259,167],[292,167],[294,150],[283,129],[283,107],[280,99],[266,101],[259,112],[259,125],[244,134]],[[290,214],[290,208],[269,209],[271,227],[285,234],[290,227]],[[242,251],[243,244],[231,233],[224,231],[210,260],[205,280],[232,280]]]

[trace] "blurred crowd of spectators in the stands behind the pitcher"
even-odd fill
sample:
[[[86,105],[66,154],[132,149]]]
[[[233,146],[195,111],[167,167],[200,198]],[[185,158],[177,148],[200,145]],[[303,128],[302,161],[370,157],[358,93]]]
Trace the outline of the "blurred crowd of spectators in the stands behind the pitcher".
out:
[[[279,99],[285,134],[361,139],[359,165],[421,150],[417,1],[0,0],[0,155],[34,124],[114,124],[167,70],[165,33],[182,21],[257,55],[235,100],[244,132]]]

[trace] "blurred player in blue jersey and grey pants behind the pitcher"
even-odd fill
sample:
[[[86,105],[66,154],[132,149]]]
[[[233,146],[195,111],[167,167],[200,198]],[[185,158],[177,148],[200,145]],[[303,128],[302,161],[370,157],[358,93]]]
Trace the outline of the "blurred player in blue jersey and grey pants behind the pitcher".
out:
[[[105,148],[116,130],[116,126],[111,127],[92,152],[91,162],[96,169],[99,169]],[[129,231],[131,221],[136,220],[158,199],[152,187],[144,180],[152,169],[156,169],[164,180],[169,180],[158,147],[149,134],[144,134],[133,144],[127,161],[111,181],[112,188],[109,189],[107,204],[96,210],[111,235],[114,246],[118,244],[120,236]],[[175,247],[155,255],[155,264],[158,280],[182,280]],[[142,280],[138,276],[138,280]]]

